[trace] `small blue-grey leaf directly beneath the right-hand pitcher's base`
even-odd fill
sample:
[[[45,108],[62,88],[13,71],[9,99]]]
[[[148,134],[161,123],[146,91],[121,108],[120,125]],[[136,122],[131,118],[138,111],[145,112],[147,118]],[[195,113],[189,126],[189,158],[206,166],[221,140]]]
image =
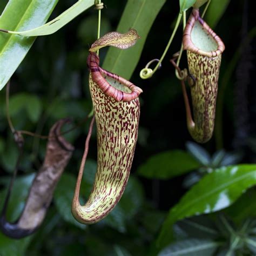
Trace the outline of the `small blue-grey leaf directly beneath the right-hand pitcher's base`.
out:
[[[210,154],[200,145],[194,142],[187,142],[186,149],[197,159],[201,164],[208,166],[211,161]]]

